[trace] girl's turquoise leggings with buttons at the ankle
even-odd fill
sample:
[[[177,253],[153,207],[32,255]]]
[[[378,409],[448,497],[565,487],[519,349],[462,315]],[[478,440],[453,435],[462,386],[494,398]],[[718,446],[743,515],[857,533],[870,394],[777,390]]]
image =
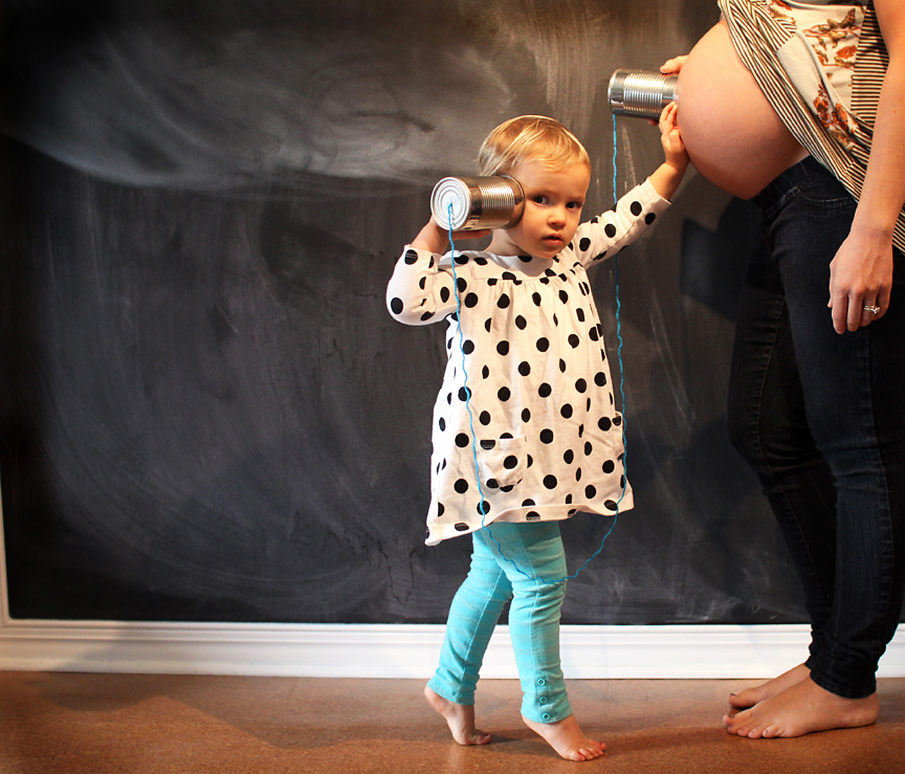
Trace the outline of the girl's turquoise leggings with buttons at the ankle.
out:
[[[572,708],[559,665],[559,610],[566,595],[559,524],[500,523],[490,530],[492,537],[487,529],[472,533],[472,569],[452,599],[440,665],[428,685],[450,702],[474,703],[484,651],[512,599],[510,637],[524,694],[521,713],[535,722],[561,721]]]

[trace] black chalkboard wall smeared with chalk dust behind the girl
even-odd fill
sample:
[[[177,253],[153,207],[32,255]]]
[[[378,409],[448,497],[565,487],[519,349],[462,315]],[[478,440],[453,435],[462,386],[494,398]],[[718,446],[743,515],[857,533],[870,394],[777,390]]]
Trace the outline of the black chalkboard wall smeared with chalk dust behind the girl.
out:
[[[0,475],[14,618],[440,622],[443,326],[386,313],[443,175],[562,119],[612,203],[616,67],[713,0],[11,0],[0,12]],[[619,119],[617,185],[661,160]],[[691,175],[619,261],[636,507],[568,623],[804,619],[723,429],[752,205]],[[611,353],[614,265],[595,269]],[[610,522],[564,524],[574,568]]]

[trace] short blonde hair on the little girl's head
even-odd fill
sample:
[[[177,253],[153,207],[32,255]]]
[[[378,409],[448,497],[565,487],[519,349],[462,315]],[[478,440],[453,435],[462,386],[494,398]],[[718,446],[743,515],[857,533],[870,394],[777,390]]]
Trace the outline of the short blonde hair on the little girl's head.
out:
[[[523,161],[538,161],[557,172],[591,159],[575,135],[555,118],[519,116],[504,121],[481,144],[479,175],[509,175]]]

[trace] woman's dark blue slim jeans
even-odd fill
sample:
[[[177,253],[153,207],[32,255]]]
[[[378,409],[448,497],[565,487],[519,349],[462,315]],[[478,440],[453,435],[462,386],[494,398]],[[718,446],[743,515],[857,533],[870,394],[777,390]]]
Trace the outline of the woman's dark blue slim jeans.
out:
[[[905,579],[905,266],[889,312],[835,333],[829,263],[853,198],[808,157],[757,195],[763,250],[742,292],[729,436],[760,478],[805,588],[814,682],[862,698]]]

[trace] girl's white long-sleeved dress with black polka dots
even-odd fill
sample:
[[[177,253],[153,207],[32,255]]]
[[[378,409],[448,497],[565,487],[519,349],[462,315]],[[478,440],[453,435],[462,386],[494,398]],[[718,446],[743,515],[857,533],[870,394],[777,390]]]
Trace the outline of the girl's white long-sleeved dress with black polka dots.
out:
[[[586,268],[634,241],[668,206],[645,181],[615,211],[582,223],[552,260],[456,251],[458,315],[452,254],[405,249],[386,288],[390,313],[407,325],[448,322],[425,543],[492,522],[633,506]]]

